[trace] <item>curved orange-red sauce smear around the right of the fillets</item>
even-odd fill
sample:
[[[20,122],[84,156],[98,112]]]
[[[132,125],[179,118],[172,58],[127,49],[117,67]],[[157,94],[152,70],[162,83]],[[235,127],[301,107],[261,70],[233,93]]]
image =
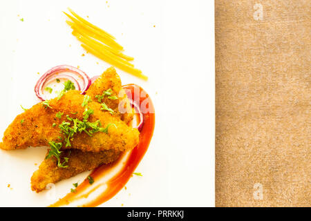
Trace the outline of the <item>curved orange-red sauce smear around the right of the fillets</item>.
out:
[[[134,90],[135,93],[137,93],[139,89],[139,104],[141,106],[143,102],[143,105],[147,106],[147,108],[144,108],[144,111],[142,111],[144,116],[144,126],[140,132],[140,142],[138,143],[138,146],[133,148],[133,150],[129,153],[124,166],[122,166],[122,169],[120,169],[120,171],[118,171],[115,175],[113,175],[113,177],[104,183],[106,185],[106,189],[102,193],[98,194],[95,199],[88,201],[81,206],[98,206],[113,198],[113,196],[116,195],[129,181],[136,167],[140,163],[140,160],[142,160],[142,157],[144,157],[144,154],[147,152],[148,146],[151,142],[151,137],[153,135],[153,129],[155,126],[155,111],[149,95],[142,88],[140,88],[140,86],[135,84],[128,84],[123,86],[123,88],[131,90],[132,95],[134,95]],[[137,99],[137,97],[135,99]],[[138,101],[136,100],[136,102]],[[106,173],[114,169],[115,166],[120,164],[120,161],[122,161],[123,157],[124,155],[120,156],[119,160],[111,164],[98,166],[97,169],[91,172],[90,176],[93,177],[96,182],[96,180],[99,180],[100,177],[103,177],[106,175]],[[97,190],[98,187],[100,186],[92,189],[91,184],[89,184],[88,179],[86,179],[84,182],[82,182],[82,184],[77,186],[75,193],[68,193],[64,198],[58,200],[50,206],[64,206],[74,202],[75,200],[87,198],[88,195]]]

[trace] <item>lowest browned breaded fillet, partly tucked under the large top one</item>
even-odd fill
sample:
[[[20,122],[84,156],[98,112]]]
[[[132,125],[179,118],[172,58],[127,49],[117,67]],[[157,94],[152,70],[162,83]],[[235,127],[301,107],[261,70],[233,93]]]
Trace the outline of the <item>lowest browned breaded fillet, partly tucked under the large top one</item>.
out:
[[[59,168],[55,157],[50,157],[39,166],[31,177],[31,189],[39,193],[50,183],[73,177],[84,171],[95,169],[100,164],[109,164],[117,160],[120,151],[108,150],[99,153],[82,152],[77,149],[66,150],[61,157],[68,157],[68,168]]]

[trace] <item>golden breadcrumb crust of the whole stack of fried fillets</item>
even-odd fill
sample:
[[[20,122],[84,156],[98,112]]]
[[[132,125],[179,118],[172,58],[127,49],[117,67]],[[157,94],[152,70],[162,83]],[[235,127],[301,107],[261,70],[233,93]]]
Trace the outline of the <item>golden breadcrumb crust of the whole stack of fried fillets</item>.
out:
[[[108,99],[105,96],[102,102],[105,102],[109,108],[113,109],[113,115],[106,111],[99,111],[98,108],[100,106],[96,104],[98,100],[95,96],[102,95],[109,88],[112,89],[111,96],[117,96],[118,99]],[[108,135],[95,133],[93,137],[89,137],[83,132],[82,134],[75,135],[73,141],[70,142],[72,146],[68,147],[70,149],[62,149],[61,159],[62,157],[68,157],[68,162],[66,163],[68,168],[58,167],[55,157],[45,159],[31,177],[32,191],[38,193],[46,189],[46,185],[49,183],[56,183],[73,177],[78,173],[95,169],[100,164],[114,162],[119,157],[121,151],[131,149],[137,144],[139,132],[124,125],[124,123],[129,124],[132,121],[133,111],[132,109],[129,110],[131,107],[129,100],[122,89],[120,77],[114,68],[107,69],[91,85],[86,95],[93,99],[93,102],[88,103],[88,106],[94,110],[94,114],[88,119],[89,122],[100,119],[100,122],[104,124],[102,126],[113,122],[113,124],[117,123],[117,128],[114,126],[109,127]],[[68,122],[66,120],[67,114],[73,118],[81,119],[83,117],[84,108],[81,106],[83,99],[83,95],[79,95],[79,92],[72,90],[66,93],[59,101],[56,99],[50,100],[49,105],[52,108],[44,108],[41,103],[33,106],[30,110],[17,116],[15,121],[8,127],[3,137],[3,143],[0,143],[0,148],[8,150],[48,145],[48,141],[54,140],[55,137],[61,135],[58,125],[63,121]],[[118,110],[120,102],[123,102],[124,108],[128,108],[126,110],[128,113],[120,113]],[[61,119],[56,117],[56,113],[59,111],[64,113]],[[21,120],[23,120],[22,124]],[[53,127],[53,124],[57,124],[57,126]],[[63,136],[61,135],[61,137]],[[61,142],[58,138],[55,141]],[[103,148],[103,146],[105,147]],[[79,149],[75,149],[77,147]],[[104,151],[101,151],[102,149]]]

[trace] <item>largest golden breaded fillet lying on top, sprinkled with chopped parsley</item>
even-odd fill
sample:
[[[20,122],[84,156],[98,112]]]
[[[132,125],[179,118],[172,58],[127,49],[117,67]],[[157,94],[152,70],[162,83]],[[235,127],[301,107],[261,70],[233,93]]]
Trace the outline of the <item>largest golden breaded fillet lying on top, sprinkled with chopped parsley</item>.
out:
[[[49,106],[42,103],[32,106],[24,113],[18,115],[8,126],[4,133],[3,144],[0,148],[14,150],[28,148],[28,146],[48,146],[51,140],[61,142],[64,140],[59,129],[62,122],[68,122],[68,117],[83,119],[85,107],[82,107],[84,95],[77,90],[69,90],[59,101],[57,98],[49,101]],[[126,151],[138,144],[139,132],[127,126],[119,117],[111,115],[108,111],[101,111],[102,106],[97,102],[88,102],[88,109],[94,111],[88,118],[89,122],[100,120],[105,128],[109,124],[108,133],[97,132],[93,135],[76,133],[70,146],[63,148],[77,148],[82,151],[100,152],[110,149]],[[75,112],[75,114],[74,114]],[[60,119],[57,113],[63,113]],[[53,127],[53,124],[55,125]],[[62,137],[60,140],[59,137]]]

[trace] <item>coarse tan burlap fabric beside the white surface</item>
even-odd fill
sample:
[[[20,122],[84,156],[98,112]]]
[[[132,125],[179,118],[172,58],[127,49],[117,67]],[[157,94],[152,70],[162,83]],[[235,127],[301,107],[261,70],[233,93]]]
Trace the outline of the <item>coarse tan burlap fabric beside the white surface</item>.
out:
[[[310,3],[215,2],[216,206],[310,206]]]

